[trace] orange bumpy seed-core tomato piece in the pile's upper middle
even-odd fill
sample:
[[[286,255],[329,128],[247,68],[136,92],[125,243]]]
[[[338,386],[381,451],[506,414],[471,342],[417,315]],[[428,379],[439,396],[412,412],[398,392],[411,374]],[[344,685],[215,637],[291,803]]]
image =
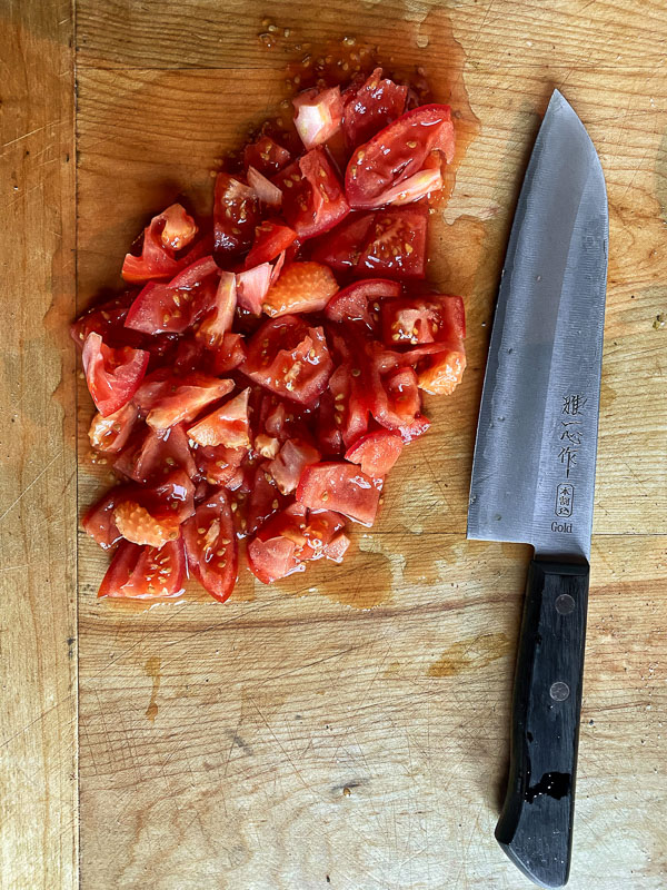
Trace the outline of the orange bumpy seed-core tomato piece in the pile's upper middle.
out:
[[[272,317],[288,313],[317,313],[338,290],[328,266],[320,263],[290,263],[271,285],[262,308]]]

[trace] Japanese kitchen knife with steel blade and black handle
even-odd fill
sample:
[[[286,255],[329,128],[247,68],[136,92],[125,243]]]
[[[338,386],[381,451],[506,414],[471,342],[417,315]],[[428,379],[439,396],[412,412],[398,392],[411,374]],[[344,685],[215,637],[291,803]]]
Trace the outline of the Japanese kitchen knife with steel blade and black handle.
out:
[[[496,838],[549,888],[571,853],[607,237],[600,162],[555,90],[505,258],[468,508],[469,538],[535,547]]]

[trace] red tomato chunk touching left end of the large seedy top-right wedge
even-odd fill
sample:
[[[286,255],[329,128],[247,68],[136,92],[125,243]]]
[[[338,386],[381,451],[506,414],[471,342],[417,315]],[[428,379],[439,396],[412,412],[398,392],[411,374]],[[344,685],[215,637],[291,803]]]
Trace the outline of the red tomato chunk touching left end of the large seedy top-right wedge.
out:
[[[276,177],[288,225],[305,240],[328,231],[349,211],[322,148],[313,148]]]

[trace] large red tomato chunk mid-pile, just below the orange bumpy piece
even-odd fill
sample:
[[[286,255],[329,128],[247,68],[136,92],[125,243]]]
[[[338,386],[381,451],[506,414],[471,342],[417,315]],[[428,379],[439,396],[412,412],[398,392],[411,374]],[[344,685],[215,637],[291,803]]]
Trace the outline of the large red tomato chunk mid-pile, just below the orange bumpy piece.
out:
[[[308,327],[296,315],[282,315],[252,335],[241,370],[283,398],[312,405],[332,367],[322,328]]]

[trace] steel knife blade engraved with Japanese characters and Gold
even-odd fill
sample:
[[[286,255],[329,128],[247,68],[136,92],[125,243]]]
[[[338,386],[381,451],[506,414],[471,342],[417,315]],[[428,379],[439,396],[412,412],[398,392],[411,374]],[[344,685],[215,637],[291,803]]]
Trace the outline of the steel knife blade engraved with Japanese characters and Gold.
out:
[[[607,277],[603,170],[556,90],[509,238],[484,383],[468,537],[588,558]]]

